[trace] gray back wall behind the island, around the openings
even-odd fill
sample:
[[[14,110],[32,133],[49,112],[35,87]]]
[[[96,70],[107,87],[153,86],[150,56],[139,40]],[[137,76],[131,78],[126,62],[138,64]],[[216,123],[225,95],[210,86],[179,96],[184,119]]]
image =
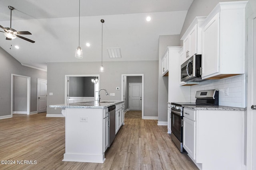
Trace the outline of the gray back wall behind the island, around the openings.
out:
[[[101,94],[101,100],[121,100],[122,74],[144,74],[144,116],[158,115],[158,61],[114,61],[103,66],[105,72],[100,73],[100,62],[48,63],[47,90],[53,96],[47,96],[47,114],[61,114],[61,109],[49,105],[64,104],[65,75],[100,74],[100,88],[115,93]]]

